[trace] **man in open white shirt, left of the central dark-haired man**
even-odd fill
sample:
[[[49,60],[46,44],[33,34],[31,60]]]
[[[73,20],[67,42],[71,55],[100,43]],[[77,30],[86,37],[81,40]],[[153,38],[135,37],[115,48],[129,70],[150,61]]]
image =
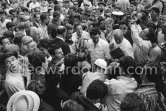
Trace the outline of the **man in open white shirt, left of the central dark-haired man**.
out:
[[[72,51],[74,53],[76,53],[76,51],[79,48],[79,46],[82,45],[82,44],[80,44],[80,40],[81,39],[89,40],[90,39],[90,35],[89,35],[88,32],[82,30],[81,24],[76,24],[74,27],[76,29],[76,32],[73,33],[73,35],[72,35],[71,39],[73,41],[73,44],[72,44],[71,47],[72,47]]]

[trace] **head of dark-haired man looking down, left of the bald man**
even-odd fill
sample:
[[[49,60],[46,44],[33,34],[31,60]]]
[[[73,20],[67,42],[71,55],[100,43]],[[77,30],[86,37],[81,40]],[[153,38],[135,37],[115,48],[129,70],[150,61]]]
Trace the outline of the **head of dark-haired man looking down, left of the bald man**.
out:
[[[91,32],[90,32],[90,36],[92,38],[92,41],[94,44],[97,44],[99,42],[99,38],[100,38],[100,31],[98,28],[92,28]]]

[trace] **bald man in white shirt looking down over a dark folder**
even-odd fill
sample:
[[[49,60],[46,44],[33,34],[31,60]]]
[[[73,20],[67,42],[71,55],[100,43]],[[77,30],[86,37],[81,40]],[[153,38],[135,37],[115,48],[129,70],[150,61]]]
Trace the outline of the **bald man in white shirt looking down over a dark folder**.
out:
[[[113,34],[117,47],[122,50],[123,54],[125,56],[131,56],[132,58],[134,58],[133,48],[130,42],[126,38],[124,38],[122,30],[116,29],[114,30]]]

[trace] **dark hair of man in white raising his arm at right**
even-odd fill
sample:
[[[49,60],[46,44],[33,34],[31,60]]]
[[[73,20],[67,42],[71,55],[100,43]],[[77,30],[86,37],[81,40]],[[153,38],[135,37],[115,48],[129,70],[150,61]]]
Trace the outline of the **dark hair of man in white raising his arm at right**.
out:
[[[152,43],[157,43],[157,36],[153,28],[149,27],[149,33],[146,35]]]

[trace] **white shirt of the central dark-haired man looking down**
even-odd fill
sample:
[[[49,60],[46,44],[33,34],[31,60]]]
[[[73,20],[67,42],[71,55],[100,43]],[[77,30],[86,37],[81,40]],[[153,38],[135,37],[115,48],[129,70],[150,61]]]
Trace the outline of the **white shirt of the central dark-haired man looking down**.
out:
[[[109,44],[105,40],[99,38],[98,44],[95,46],[92,39],[88,41],[88,52],[91,57],[91,63],[93,64],[97,59],[110,59]]]

